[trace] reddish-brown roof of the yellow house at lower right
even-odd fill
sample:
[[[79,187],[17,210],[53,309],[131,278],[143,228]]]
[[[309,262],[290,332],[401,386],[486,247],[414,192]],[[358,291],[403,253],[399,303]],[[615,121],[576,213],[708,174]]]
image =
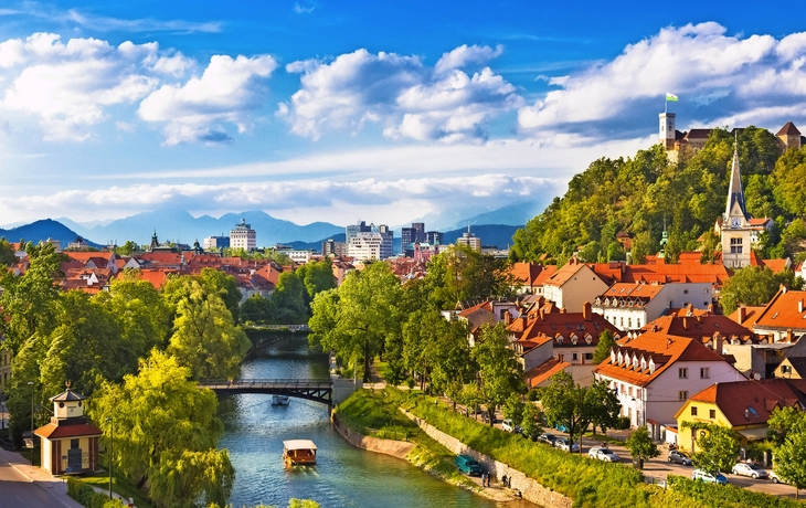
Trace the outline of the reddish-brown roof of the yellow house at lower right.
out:
[[[766,423],[776,408],[806,405],[806,380],[762,379],[715,383],[691,401],[712,402],[731,425]]]

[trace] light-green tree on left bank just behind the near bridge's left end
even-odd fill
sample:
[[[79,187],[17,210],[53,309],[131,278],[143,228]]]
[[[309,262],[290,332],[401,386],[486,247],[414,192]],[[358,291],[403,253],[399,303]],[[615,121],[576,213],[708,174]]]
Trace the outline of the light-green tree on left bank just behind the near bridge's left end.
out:
[[[251,347],[216,292],[190,278],[178,304],[168,352],[188,367],[194,379],[234,378]]]

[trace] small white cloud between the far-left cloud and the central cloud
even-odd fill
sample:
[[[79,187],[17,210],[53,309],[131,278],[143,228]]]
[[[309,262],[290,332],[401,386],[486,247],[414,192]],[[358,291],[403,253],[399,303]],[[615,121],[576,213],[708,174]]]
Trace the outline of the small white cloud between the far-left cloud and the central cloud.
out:
[[[247,59],[215,55],[201,77],[184,85],[163,85],[146,97],[138,115],[146,121],[165,123],[166,145],[230,140],[225,125],[244,133],[252,113],[259,109],[266,78],[277,66],[268,55]]]

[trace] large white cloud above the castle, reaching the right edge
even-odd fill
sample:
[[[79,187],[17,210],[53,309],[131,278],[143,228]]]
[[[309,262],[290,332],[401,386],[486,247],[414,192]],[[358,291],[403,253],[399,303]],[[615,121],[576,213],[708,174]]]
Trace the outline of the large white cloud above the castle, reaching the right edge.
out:
[[[762,120],[754,119],[756,113],[783,105],[797,106],[803,115],[805,61],[805,33],[776,40],[725,35],[714,22],[666,28],[628,45],[611,62],[551,81],[561,89],[522,107],[519,126],[581,131],[596,121],[628,121],[625,117],[651,100],[662,102],[666,92],[677,94],[681,104],[699,106],[696,114],[709,124],[735,116],[757,125]]]

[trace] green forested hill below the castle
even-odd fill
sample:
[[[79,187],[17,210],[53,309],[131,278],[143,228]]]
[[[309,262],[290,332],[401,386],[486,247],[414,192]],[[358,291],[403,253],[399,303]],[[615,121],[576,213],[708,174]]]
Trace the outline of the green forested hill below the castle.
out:
[[[766,129],[747,127],[739,133],[739,158],[747,212],[775,218],[775,229],[762,235],[765,257],[803,251],[806,224],[806,148],[782,155]],[[725,207],[734,137],[713,129],[697,155],[682,154],[671,163],[660,145],[627,159],[598,159],[569,183],[562,198],[515,234],[513,260],[534,261],[541,254],[562,263],[579,251],[588,262],[624,260],[618,232],[633,236],[632,258],[640,263],[659,250],[664,224],[669,243],[667,257],[681,251],[704,250],[704,260],[719,240],[714,222]],[[704,234],[703,233],[708,233]]]

